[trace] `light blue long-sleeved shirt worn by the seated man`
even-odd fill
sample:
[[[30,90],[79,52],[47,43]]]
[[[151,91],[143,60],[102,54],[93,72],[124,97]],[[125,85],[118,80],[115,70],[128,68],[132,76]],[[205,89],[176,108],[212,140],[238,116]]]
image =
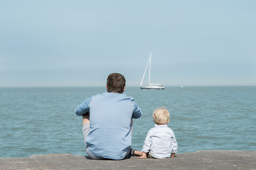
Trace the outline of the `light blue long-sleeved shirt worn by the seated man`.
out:
[[[141,110],[132,97],[105,92],[86,99],[75,109],[76,115],[90,112],[89,151],[98,157],[123,159],[131,146],[131,118]]]

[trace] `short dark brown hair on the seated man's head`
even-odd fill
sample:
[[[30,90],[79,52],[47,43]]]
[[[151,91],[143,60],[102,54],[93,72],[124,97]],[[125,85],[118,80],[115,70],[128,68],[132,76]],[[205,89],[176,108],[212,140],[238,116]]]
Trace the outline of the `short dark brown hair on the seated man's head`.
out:
[[[107,90],[108,92],[115,92],[122,94],[125,87],[124,75],[120,73],[111,73],[107,79]]]

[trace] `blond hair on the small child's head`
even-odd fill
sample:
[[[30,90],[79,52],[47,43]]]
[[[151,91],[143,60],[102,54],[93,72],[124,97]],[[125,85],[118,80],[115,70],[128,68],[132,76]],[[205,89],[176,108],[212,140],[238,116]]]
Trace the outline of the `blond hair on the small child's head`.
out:
[[[153,118],[156,124],[167,124],[170,118],[170,113],[167,111],[166,108],[157,108],[153,112]]]

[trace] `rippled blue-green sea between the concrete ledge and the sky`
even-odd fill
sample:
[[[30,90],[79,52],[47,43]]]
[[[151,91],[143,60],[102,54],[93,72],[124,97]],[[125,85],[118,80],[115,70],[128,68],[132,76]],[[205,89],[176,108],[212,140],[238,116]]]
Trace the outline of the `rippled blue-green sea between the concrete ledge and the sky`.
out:
[[[74,109],[105,87],[0,88],[0,158],[42,154],[86,156],[82,117]],[[133,120],[132,148],[141,150],[158,107],[170,112],[168,126],[178,154],[198,150],[256,150],[256,86],[126,87],[142,116]]]

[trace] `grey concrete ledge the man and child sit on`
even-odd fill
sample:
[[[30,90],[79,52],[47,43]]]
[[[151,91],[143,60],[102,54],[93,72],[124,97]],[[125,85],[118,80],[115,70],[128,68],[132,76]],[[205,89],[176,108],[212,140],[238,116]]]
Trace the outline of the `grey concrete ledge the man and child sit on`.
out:
[[[0,158],[0,169],[256,169],[256,151],[205,150],[169,159],[92,160],[71,154]]]

